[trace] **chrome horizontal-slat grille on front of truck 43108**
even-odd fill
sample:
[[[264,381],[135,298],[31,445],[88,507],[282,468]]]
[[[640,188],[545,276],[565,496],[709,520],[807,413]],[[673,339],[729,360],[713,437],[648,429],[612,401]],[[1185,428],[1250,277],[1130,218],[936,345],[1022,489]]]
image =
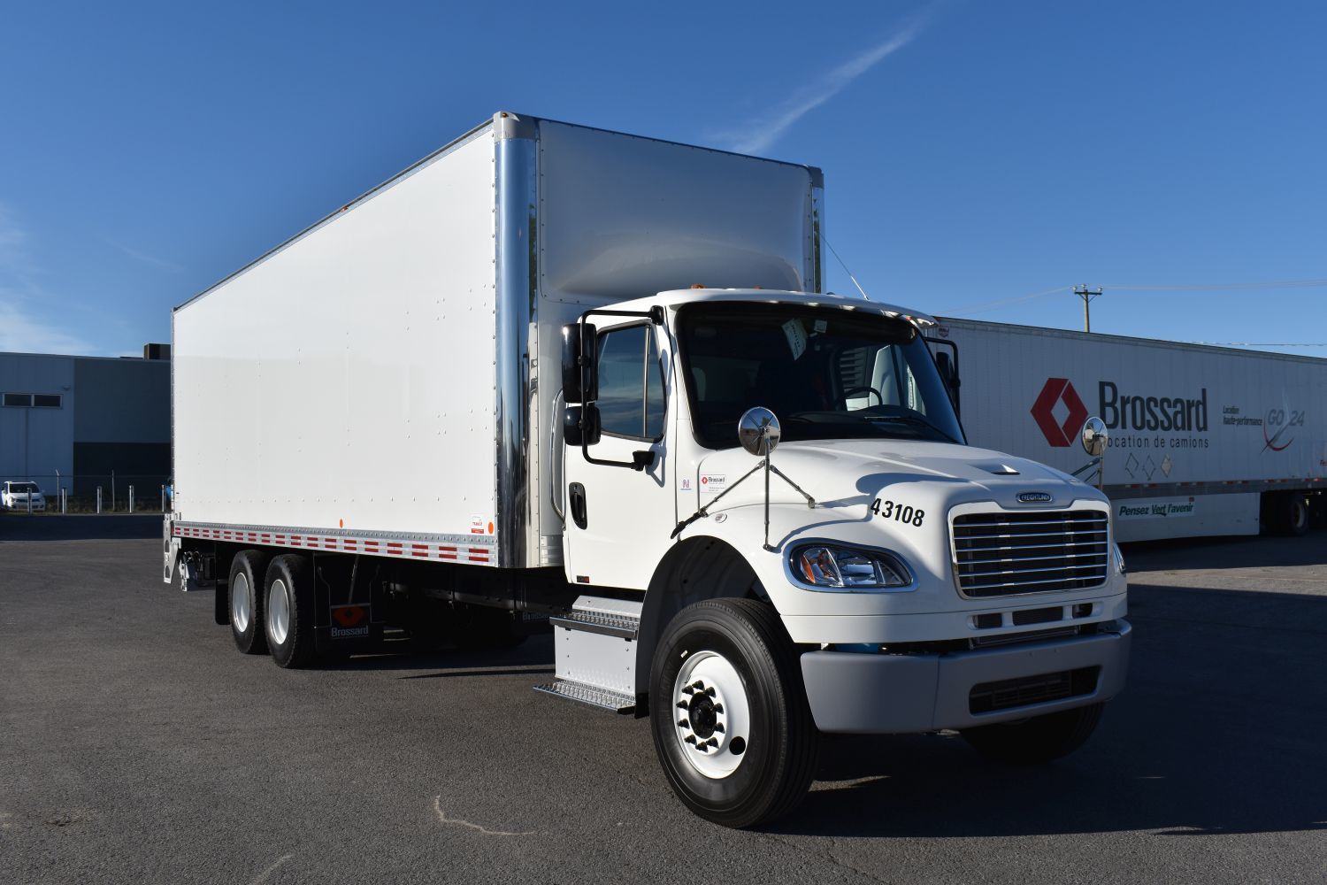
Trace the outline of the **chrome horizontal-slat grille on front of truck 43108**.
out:
[[[1096,510],[955,516],[958,588],[989,597],[1100,586],[1111,559],[1107,519]]]

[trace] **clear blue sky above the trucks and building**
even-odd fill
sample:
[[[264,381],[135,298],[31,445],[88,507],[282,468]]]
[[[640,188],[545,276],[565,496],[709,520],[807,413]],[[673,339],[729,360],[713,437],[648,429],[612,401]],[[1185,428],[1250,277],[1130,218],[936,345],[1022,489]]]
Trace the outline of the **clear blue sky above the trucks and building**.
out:
[[[1080,328],[1100,285],[1097,332],[1322,345],[1323,33],[1290,1],[11,4],[0,350],[167,341],[499,109],[820,166],[877,300]]]

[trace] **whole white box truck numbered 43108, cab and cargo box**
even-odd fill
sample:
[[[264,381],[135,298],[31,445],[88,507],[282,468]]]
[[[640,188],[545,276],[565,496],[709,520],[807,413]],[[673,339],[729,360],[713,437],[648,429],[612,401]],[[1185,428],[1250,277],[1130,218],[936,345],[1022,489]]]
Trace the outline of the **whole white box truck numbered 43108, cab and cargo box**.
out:
[[[966,444],[932,318],[820,292],[821,199],[496,114],[175,309],[165,579],[283,667],[548,614],[543,689],[727,825],[820,732],[1072,751],[1128,662],[1108,502]]]

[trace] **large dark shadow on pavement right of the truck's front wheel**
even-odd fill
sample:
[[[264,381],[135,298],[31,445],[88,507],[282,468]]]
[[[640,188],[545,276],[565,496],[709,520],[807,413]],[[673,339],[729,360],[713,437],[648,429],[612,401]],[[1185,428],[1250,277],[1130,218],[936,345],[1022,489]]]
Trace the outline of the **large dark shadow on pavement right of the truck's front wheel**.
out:
[[[1192,551],[1221,568],[1214,552]],[[1327,551],[1296,552],[1327,560]],[[958,735],[828,736],[819,788],[771,832],[1327,829],[1327,579],[1314,585],[1277,593],[1139,580],[1129,683],[1078,754],[1016,768],[987,763]]]

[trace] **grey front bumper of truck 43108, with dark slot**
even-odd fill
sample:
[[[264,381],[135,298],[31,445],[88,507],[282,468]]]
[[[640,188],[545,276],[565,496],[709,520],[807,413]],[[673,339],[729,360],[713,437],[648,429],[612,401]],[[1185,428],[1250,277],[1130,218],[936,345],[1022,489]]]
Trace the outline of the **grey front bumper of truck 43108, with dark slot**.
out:
[[[1127,621],[1087,637],[946,654],[856,654],[808,651],[802,655],[807,701],[820,731],[898,734],[970,728],[1097,703],[1124,689],[1129,666]],[[1095,673],[1093,673],[1095,670]],[[1051,674],[1075,674],[1070,697],[987,706],[990,686]],[[1084,690],[1078,674],[1093,674]],[[1066,677],[1068,682],[1068,677]],[[987,686],[974,697],[973,689]],[[1016,694],[1010,686],[1001,703]],[[1035,693],[1031,695],[1035,697]]]

